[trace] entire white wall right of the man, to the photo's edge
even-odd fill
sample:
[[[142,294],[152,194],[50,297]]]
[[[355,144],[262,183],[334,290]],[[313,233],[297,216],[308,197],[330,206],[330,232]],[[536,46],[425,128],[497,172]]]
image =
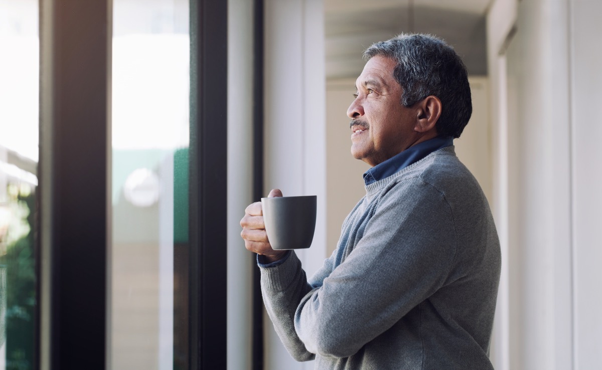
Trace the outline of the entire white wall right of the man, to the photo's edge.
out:
[[[494,205],[504,248],[494,365],[594,369],[602,350],[595,234],[602,129],[594,116],[602,51],[592,45],[602,4],[509,3],[496,1],[488,14]]]

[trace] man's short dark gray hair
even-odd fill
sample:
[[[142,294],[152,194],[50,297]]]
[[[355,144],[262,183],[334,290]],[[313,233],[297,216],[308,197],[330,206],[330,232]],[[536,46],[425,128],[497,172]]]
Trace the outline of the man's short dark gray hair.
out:
[[[473,105],[468,72],[451,46],[433,35],[400,34],[377,42],[364,52],[365,60],[383,55],[396,61],[394,78],[403,88],[402,105],[412,106],[427,96],[441,100],[438,135],[460,137]]]

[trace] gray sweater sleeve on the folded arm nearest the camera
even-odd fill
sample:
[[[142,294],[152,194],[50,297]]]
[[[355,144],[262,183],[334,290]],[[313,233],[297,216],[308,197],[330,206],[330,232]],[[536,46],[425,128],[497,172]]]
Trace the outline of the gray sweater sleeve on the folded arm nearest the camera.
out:
[[[415,178],[375,202],[353,251],[297,306],[309,353],[352,356],[445,283],[456,232],[444,194]]]

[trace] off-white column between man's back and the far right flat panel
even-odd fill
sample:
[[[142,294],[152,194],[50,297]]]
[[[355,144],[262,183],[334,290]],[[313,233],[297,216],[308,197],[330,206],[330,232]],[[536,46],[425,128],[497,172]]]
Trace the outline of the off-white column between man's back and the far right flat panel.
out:
[[[519,2],[515,23],[508,13],[495,13],[503,7],[498,4],[507,2],[496,1],[488,14],[498,135],[494,199],[503,247],[495,335],[503,342],[494,348],[502,356],[495,353],[494,365],[571,369],[576,271],[571,111],[576,108],[570,103],[569,2]],[[509,27],[500,26],[504,22],[497,17],[504,16],[512,20]],[[496,26],[516,34],[497,37]]]

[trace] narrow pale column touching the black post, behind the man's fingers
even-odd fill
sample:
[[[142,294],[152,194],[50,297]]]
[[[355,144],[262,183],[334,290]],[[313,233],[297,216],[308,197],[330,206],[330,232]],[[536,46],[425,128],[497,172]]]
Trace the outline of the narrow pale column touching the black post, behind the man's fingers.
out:
[[[253,202],[253,2],[228,2],[228,370],[252,361],[253,255],[240,219]],[[219,194],[217,194],[219,196]],[[217,262],[217,261],[216,261]]]

